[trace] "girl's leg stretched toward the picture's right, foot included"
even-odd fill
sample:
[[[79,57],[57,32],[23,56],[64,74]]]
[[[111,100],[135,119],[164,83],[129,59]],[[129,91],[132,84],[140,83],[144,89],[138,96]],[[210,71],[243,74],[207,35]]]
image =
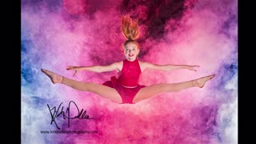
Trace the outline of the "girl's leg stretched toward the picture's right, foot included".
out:
[[[143,87],[138,91],[138,94],[135,95],[133,102],[139,102],[143,99],[153,97],[154,95],[161,94],[163,92],[174,92],[179,90],[188,89],[190,87],[200,87],[202,88],[207,81],[211,78],[214,78],[215,74],[194,79],[187,82],[178,82],[178,83],[160,83],[152,86]]]

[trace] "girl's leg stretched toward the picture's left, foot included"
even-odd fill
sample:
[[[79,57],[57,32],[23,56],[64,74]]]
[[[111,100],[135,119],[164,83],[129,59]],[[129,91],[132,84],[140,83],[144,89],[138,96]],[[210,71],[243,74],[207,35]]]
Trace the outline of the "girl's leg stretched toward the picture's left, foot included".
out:
[[[97,83],[78,82],[70,78],[65,78],[63,76],[55,74],[54,72],[51,72],[49,70],[43,70],[43,69],[41,70],[44,74],[46,74],[50,78],[51,82],[53,82],[54,84],[62,83],[66,86],[70,86],[74,88],[75,90],[91,91],[91,92],[94,92],[95,94],[102,96],[103,98],[108,98],[113,102],[117,102],[117,103],[122,102],[122,98],[120,97],[118,92],[111,87],[103,86]]]

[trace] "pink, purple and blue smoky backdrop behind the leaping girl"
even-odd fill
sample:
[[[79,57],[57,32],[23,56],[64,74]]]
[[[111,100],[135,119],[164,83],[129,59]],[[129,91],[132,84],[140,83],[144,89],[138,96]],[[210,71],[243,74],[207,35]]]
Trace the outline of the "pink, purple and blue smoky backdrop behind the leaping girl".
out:
[[[216,77],[202,89],[158,94],[134,105],[119,105],[97,94],[53,85],[42,74],[40,69],[45,68],[67,78],[97,83],[117,76],[116,72],[82,71],[73,77],[66,66],[122,61],[122,14],[140,20],[139,60],[200,66],[197,72],[146,70],[142,85],[183,82],[209,74]],[[32,77],[31,81],[22,77],[22,118],[34,119],[33,125],[30,121],[22,123],[22,142],[33,143],[34,138],[46,143],[52,139],[55,143],[237,142],[237,116],[233,112],[237,110],[237,71],[230,68],[237,65],[237,1],[24,0],[22,42],[26,47],[22,50],[22,70],[30,71]],[[42,105],[33,98],[41,99],[37,102]],[[54,130],[46,103],[57,106],[63,102],[67,106],[71,100],[94,120],[71,121],[70,129],[62,121],[62,129],[98,130],[98,134],[25,133],[31,128]]]

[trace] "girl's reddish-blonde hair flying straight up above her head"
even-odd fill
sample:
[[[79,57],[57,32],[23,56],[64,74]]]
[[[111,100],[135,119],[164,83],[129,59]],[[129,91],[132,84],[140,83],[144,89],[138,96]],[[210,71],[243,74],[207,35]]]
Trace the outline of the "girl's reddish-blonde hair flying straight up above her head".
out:
[[[122,16],[122,35],[126,38],[126,42],[122,44],[126,46],[126,44],[130,42],[134,42],[138,46],[138,42],[135,39],[139,38],[140,31],[138,30],[138,18],[134,21],[130,18],[130,15]],[[138,46],[139,49],[139,46]]]

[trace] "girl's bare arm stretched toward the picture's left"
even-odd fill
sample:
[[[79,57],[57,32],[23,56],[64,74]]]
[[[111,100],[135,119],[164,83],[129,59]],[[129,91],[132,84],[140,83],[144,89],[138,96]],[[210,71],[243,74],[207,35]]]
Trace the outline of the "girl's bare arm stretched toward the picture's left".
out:
[[[107,66],[66,66],[66,70],[74,70],[74,75],[75,75],[82,70],[94,71],[97,73],[102,73],[102,72],[112,71],[112,70],[120,70],[120,66],[122,66],[121,62],[115,62]]]

